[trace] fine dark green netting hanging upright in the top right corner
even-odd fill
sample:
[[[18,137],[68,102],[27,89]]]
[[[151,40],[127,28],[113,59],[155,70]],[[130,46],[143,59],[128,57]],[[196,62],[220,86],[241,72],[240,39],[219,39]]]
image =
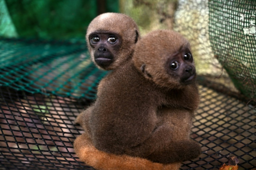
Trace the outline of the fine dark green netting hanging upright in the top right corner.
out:
[[[209,1],[209,36],[215,57],[243,94],[256,98],[256,1]]]

